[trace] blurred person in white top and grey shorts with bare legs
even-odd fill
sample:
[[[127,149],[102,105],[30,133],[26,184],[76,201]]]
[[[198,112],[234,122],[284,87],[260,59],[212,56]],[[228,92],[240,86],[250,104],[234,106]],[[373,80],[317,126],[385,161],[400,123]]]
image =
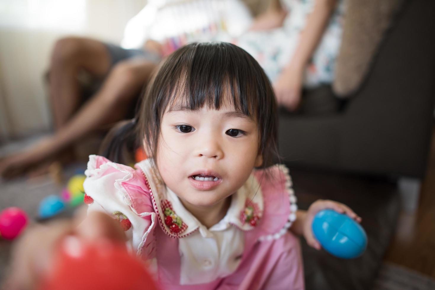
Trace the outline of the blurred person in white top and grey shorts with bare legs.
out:
[[[235,35],[248,23],[250,13],[239,0],[149,0],[127,23],[122,47],[84,37],[58,40],[49,70],[55,133],[0,160],[0,175],[45,173],[54,161],[74,160],[72,146],[80,138],[134,116],[137,96],[162,57],[192,41]],[[77,78],[81,70],[103,81],[87,100]]]

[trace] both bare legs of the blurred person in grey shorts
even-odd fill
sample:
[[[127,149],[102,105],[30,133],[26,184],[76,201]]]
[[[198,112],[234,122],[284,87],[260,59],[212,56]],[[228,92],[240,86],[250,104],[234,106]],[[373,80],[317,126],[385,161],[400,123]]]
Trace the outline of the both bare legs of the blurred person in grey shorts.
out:
[[[70,42],[68,46],[67,42]],[[76,44],[77,47],[72,49]],[[80,51],[84,47],[89,54]],[[103,76],[110,69],[110,55],[104,44],[96,40],[69,38],[57,43],[52,60],[50,94],[57,131],[31,149],[2,160],[0,174],[3,177],[17,176],[38,163],[46,162],[87,133],[123,119],[155,67],[155,63],[144,59],[119,62],[110,70],[101,89],[77,111],[81,101],[76,80],[78,70],[85,69],[97,77]]]

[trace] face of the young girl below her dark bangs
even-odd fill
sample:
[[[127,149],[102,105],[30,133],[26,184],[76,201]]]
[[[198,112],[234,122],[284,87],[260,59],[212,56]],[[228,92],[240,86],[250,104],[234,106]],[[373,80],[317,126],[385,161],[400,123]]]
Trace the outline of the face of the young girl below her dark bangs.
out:
[[[235,193],[261,165],[258,145],[257,124],[232,104],[194,111],[175,106],[163,115],[155,160],[184,203],[208,207]]]

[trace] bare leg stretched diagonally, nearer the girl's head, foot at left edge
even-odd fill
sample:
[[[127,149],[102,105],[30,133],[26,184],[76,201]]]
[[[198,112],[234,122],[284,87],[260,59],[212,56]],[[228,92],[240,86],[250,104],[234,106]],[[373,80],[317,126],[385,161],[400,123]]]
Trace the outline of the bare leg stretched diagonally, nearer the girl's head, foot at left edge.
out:
[[[123,119],[155,66],[146,60],[128,60],[117,64],[100,91],[61,130],[15,159],[5,160],[0,165],[0,173],[4,177],[13,177],[21,173],[23,167],[46,160],[87,133]]]

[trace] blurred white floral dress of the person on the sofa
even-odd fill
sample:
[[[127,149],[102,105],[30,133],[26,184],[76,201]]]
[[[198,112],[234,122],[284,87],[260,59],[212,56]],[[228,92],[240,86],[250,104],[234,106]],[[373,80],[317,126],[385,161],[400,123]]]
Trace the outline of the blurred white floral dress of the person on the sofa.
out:
[[[306,19],[314,8],[315,0],[281,0],[288,11],[283,26],[265,31],[249,31],[232,42],[248,51],[263,67],[272,82],[277,80],[298,45]],[[335,60],[341,44],[344,2],[339,0],[325,32],[305,70],[305,87],[331,83],[334,79]]]

